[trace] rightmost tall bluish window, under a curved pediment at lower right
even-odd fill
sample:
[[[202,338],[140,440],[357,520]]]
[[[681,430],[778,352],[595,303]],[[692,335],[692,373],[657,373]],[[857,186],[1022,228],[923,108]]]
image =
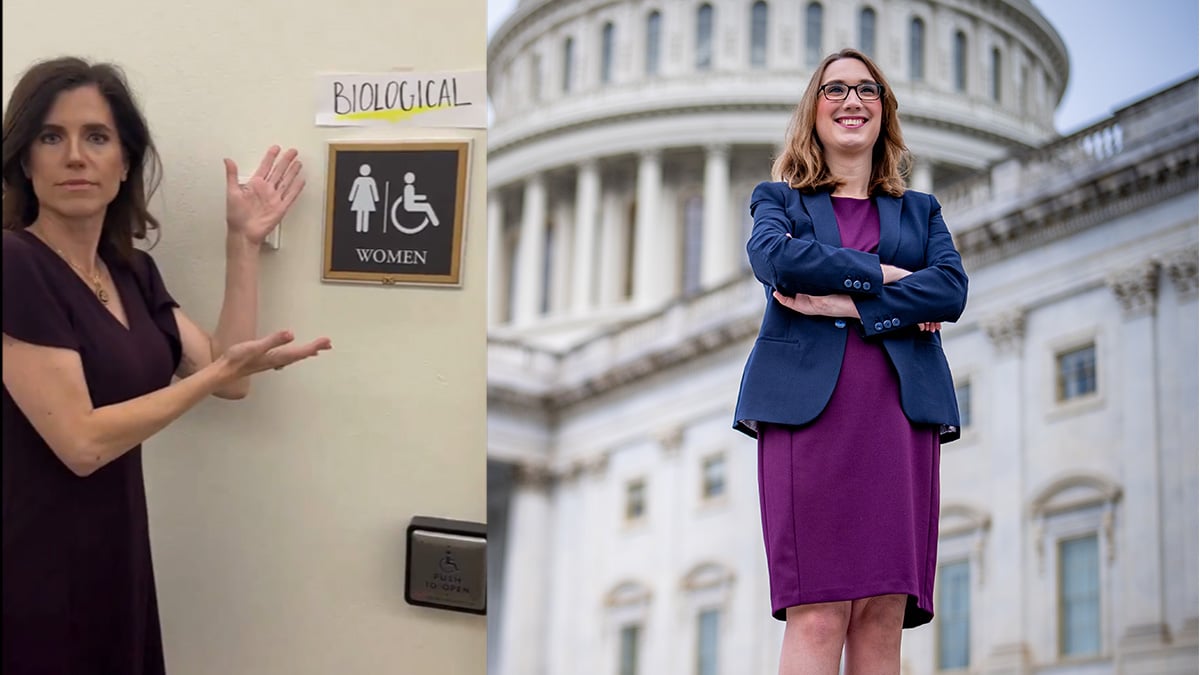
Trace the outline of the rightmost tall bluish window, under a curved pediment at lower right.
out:
[[[1100,653],[1100,549],[1096,534],[1058,543],[1058,653]]]

